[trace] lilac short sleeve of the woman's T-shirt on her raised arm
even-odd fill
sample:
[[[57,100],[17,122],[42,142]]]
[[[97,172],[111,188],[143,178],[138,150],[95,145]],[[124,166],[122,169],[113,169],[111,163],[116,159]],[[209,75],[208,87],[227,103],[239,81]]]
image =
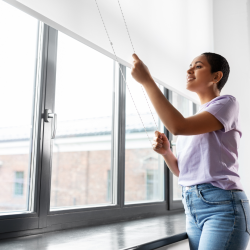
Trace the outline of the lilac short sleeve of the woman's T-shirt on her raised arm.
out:
[[[217,99],[211,102],[203,111],[215,116],[224,126],[222,131],[228,132],[236,129],[239,115],[239,103],[233,97]]]

